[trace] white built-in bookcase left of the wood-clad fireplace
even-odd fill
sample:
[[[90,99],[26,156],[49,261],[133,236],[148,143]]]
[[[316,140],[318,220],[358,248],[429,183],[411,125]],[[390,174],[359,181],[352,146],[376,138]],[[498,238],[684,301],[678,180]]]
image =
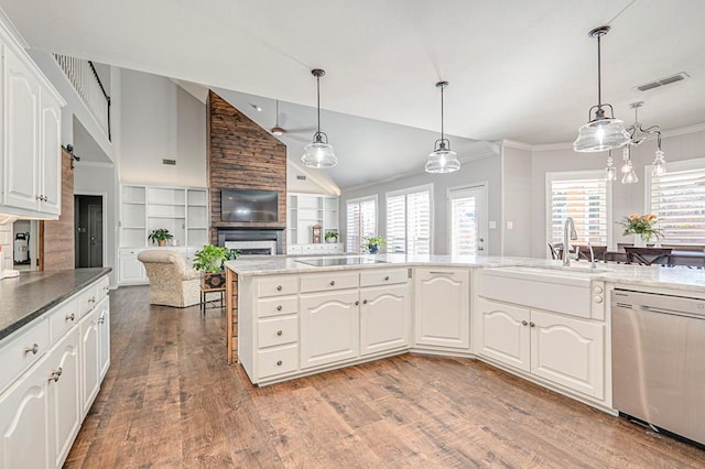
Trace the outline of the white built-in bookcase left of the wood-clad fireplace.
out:
[[[164,249],[181,251],[191,262],[193,254],[208,244],[208,189],[139,184],[120,186],[120,284],[147,283],[147,273],[137,260],[140,251],[155,248],[148,236],[167,229],[174,238]]]

